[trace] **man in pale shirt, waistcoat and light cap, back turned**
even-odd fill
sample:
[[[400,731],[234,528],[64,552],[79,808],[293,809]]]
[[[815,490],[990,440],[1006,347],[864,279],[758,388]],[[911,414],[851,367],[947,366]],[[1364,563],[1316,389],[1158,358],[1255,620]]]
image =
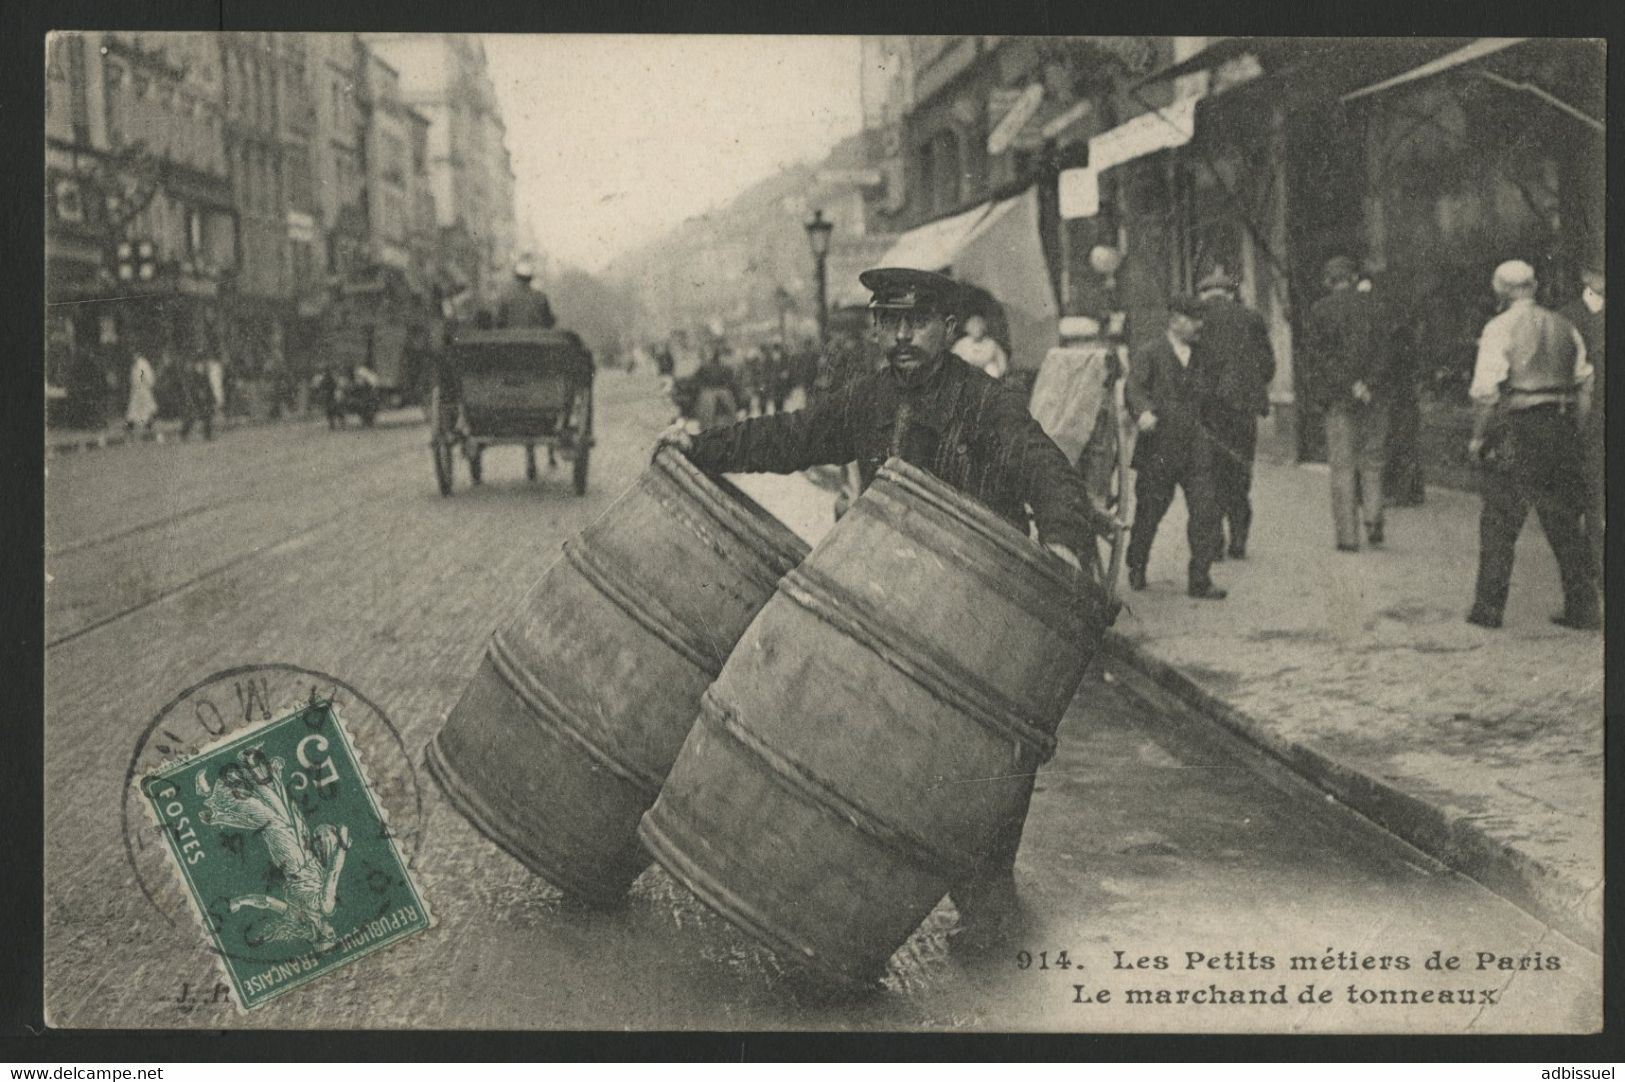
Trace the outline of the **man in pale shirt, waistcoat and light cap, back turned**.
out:
[[[1586,343],[1566,318],[1534,301],[1534,268],[1510,260],[1490,279],[1503,310],[1484,327],[1472,370],[1472,440],[1482,461],[1479,578],[1467,622],[1500,627],[1513,552],[1534,507],[1557,557],[1563,611],[1554,624],[1601,627],[1601,603],[1581,517],[1586,509],[1580,418],[1591,405]]]

